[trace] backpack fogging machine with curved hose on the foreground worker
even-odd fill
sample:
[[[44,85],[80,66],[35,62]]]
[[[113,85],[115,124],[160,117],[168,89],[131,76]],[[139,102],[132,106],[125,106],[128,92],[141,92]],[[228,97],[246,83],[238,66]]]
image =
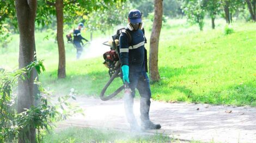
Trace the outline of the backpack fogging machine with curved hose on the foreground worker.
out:
[[[110,79],[108,80],[107,84],[103,87],[100,93],[100,99],[103,101],[107,101],[109,99],[112,99],[115,95],[120,93],[123,89],[125,89],[125,93],[130,93],[131,89],[129,88],[128,84],[125,83],[124,85],[120,86],[117,90],[115,90],[112,94],[105,96],[105,92],[109,85],[113,82],[113,80],[117,77],[121,78],[121,68],[120,68],[120,60],[119,60],[119,37],[121,34],[121,30],[124,30],[125,28],[121,28],[117,30],[117,34],[112,36],[112,40],[109,40],[107,42],[104,42],[103,44],[105,46],[110,47],[110,51],[107,51],[103,54],[103,59],[105,60],[103,64],[108,68],[108,74],[110,76]]]

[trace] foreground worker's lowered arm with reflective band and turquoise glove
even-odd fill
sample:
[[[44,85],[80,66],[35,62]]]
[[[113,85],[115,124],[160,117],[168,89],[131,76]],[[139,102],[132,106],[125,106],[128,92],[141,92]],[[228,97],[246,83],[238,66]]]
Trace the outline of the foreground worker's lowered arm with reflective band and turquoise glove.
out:
[[[122,33],[119,37],[119,50],[120,50],[120,62],[121,69],[123,72],[123,81],[124,83],[130,83],[129,81],[129,46],[128,46],[128,37],[126,34]]]

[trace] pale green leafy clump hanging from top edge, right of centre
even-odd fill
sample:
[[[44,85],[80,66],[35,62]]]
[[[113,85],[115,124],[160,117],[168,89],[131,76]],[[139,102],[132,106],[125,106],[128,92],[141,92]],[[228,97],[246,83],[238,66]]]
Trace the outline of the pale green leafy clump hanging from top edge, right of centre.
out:
[[[184,13],[186,14],[188,21],[192,24],[198,24],[200,30],[202,31],[204,27],[205,16],[203,0],[184,0],[182,3],[182,9],[184,10]]]

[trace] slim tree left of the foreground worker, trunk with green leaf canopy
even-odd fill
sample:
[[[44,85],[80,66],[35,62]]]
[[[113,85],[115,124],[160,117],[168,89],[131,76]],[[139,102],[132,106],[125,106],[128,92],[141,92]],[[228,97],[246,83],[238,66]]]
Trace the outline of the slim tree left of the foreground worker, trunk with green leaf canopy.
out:
[[[77,17],[88,15],[97,9],[108,9],[111,5],[125,0],[96,0],[96,1],[68,1],[68,0],[41,0],[42,5],[47,5],[45,8],[39,9],[38,13],[42,19],[47,16],[56,15],[57,17],[57,42],[59,49],[59,64],[58,78],[65,78],[65,45],[63,40],[63,25],[64,22],[74,21]],[[83,19],[81,19],[82,21]],[[45,23],[44,21],[41,21]]]

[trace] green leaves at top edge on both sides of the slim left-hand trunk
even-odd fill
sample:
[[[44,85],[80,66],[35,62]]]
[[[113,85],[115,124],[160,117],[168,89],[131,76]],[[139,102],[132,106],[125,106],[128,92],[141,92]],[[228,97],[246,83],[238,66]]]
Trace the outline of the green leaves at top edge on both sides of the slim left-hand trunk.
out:
[[[124,0],[96,0],[96,1],[68,1],[64,0],[64,22],[74,22],[78,17],[86,17],[93,11],[108,9],[108,6],[124,2]],[[42,26],[50,24],[51,19],[48,16],[55,15],[55,0],[40,0],[38,1],[38,6],[36,21],[38,24],[42,24]]]

